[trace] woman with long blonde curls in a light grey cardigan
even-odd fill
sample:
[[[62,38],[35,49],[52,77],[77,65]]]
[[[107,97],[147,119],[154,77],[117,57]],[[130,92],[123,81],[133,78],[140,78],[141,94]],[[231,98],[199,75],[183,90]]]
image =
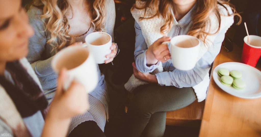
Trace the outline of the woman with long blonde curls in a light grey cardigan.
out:
[[[67,46],[81,45],[85,37],[97,31],[107,32],[113,38],[115,5],[113,0],[35,0],[27,11],[35,34],[29,40],[28,61],[37,74],[49,103],[56,90],[57,75],[51,61],[57,51]],[[76,42],[76,44],[74,44]],[[116,55],[116,45],[110,46],[111,53],[104,63],[110,63]],[[70,62],[68,62],[70,63]],[[89,93],[90,109],[84,115],[72,118],[69,136],[88,136],[86,128],[95,123],[101,131],[108,116],[108,92],[104,75],[97,71],[99,82]]]

